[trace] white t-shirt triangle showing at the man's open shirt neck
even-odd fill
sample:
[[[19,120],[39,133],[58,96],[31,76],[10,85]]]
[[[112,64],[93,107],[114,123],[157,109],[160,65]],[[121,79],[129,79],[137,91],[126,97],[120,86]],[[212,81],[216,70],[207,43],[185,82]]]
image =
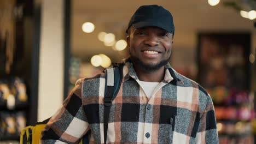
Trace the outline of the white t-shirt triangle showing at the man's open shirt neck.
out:
[[[147,82],[147,81],[139,81],[141,83],[141,87],[143,91],[146,93],[148,99],[152,96],[154,89],[160,82]]]

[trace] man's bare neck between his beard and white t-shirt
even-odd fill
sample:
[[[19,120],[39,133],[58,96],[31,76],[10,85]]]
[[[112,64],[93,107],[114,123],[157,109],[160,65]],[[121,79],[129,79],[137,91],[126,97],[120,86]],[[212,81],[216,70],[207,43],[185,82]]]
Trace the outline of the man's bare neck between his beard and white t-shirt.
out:
[[[141,67],[134,67],[140,81],[161,82],[165,76],[165,67],[155,71],[144,70]]]

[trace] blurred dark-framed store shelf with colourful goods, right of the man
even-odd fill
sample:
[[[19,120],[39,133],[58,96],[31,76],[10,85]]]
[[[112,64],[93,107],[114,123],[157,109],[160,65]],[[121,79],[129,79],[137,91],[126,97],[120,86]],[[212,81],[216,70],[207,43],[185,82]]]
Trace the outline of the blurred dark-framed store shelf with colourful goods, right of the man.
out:
[[[249,86],[250,35],[199,34],[199,82],[211,95],[220,144],[254,143],[254,95]]]

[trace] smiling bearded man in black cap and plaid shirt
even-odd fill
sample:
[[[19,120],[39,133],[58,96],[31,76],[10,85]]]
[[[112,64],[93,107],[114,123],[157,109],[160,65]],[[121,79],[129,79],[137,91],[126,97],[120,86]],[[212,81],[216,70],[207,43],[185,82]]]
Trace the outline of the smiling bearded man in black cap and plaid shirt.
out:
[[[168,63],[173,44],[171,13],[143,5],[126,33],[130,58],[109,113],[107,143],[218,143],[210,95]],[[43,143],[104,143],[105,74],[78,81],[43,131]]]

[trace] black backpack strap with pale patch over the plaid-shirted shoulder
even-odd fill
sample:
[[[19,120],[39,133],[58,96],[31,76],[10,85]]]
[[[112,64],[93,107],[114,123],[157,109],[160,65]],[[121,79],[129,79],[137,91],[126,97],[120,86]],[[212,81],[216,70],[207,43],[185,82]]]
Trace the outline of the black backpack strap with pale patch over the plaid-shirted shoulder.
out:
[[[110,106],[112,105],[112,100],[117,96],[119,91],[123,73],[121,73],[123,67],[114,65],[106,69],[106,83],[105,83],[105,93],[104,93],[104,143],[107,142],[107,132],[108,132],[108,118]]]

